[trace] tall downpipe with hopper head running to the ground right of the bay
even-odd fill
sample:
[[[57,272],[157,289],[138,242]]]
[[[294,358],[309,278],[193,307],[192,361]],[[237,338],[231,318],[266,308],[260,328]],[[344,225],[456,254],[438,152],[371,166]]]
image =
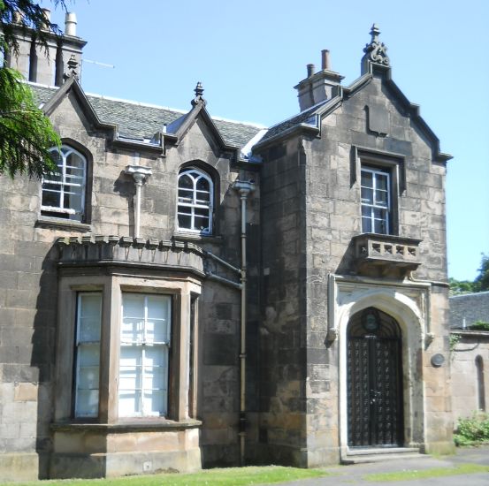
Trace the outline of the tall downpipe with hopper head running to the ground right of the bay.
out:
[[[233,188],[241,198],[241,348],[240,348],[240,464],[245,465],[246,439],[246,202],[248,195],[255,190],[252,181],[236,180]]]

